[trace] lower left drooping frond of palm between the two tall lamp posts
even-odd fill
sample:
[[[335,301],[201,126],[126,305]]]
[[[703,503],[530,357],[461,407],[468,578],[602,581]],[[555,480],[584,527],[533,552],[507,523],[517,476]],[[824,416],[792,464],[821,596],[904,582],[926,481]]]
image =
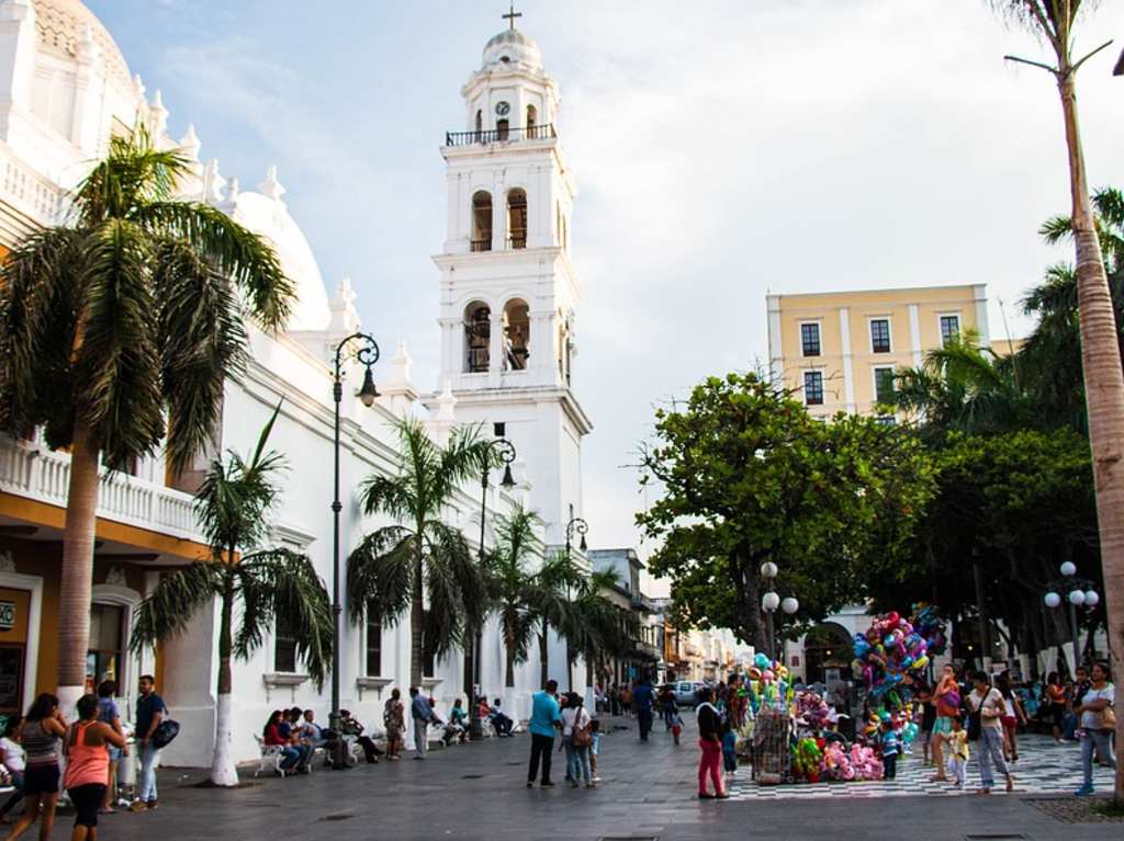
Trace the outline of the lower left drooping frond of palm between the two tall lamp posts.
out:
[[[410,605],[414,532],[388,525],[363,538],[347,556],[347,615],[353,624],[374,619],[392,625]]]

